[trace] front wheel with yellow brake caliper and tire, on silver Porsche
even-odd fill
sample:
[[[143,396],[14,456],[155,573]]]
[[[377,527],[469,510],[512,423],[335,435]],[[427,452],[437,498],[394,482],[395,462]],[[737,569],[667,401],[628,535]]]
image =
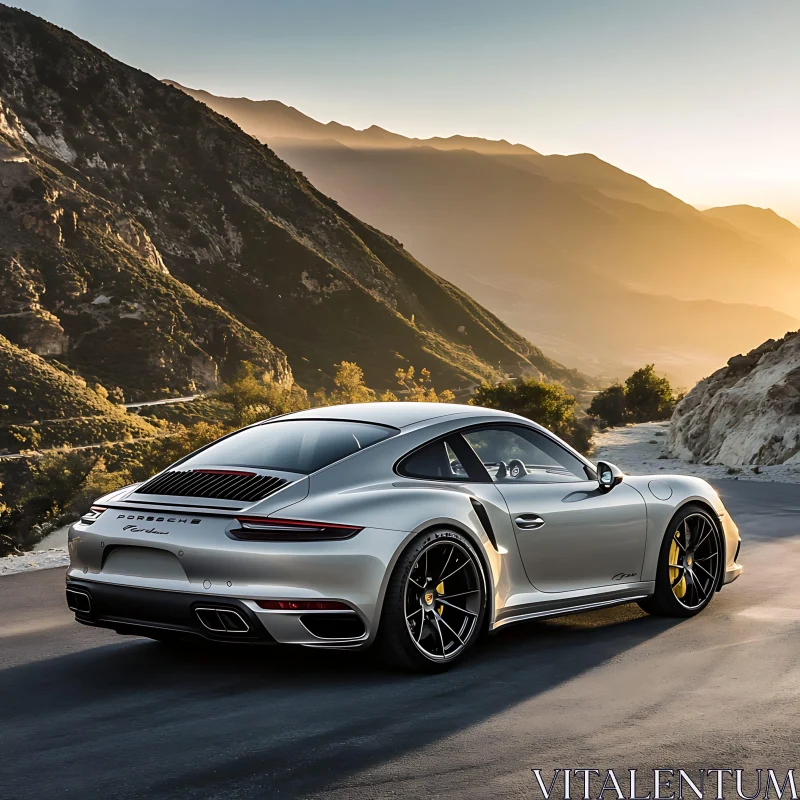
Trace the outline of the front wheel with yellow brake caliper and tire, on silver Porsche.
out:
[[[724,556],[722,531],[713,514],[694,504],[684,506],[664,534],[655,593],[639,607],[660,617],[699,614],[717,591]]]

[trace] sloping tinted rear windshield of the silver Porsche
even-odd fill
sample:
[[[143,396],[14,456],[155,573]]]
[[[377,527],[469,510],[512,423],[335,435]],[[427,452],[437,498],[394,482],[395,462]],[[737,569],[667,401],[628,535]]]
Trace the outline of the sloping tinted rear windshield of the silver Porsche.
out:
[[[388,439],[383,425],[339,420],[284,420],[256,425],[222,439],[181,466],[214,464],[309,474]]]

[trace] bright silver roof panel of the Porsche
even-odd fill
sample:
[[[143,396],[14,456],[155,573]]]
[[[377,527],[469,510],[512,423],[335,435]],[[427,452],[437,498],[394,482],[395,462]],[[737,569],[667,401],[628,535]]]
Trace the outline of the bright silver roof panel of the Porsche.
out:
[[[481,406],[468,406],[458,403],[350,403],[340,406],[324,406],[309,408],[294,414],[287,414],[282,419],[340,419],[354,422],[371,422],[375,425],[391,425],[405,428],[420,422],[450,417],[455,414],[472,414],[475,416],[501,416],[520,419],[516,414],[498,411]]]

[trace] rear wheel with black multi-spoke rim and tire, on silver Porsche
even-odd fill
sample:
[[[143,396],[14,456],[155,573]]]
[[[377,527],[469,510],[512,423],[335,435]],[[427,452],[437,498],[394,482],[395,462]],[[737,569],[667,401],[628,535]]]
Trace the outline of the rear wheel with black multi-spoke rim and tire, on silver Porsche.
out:
[[[393,667],[444,672],[475,646],[485,616],[486,577],[474,546],[456,531],[429,531],[411,542],[389,578],[378,649]]]

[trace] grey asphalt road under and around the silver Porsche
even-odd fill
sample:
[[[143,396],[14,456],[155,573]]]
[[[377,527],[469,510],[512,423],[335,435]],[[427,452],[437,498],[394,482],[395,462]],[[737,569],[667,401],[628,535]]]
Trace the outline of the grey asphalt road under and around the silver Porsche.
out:
[[[800,487],[718,488],[745,572],[703,614],[522,624],[435,677],[352,653],[176,654],[73,623],[60,569],[0,579],[0,800],[484,800],[541,797],[532,767],[800,774]]]

